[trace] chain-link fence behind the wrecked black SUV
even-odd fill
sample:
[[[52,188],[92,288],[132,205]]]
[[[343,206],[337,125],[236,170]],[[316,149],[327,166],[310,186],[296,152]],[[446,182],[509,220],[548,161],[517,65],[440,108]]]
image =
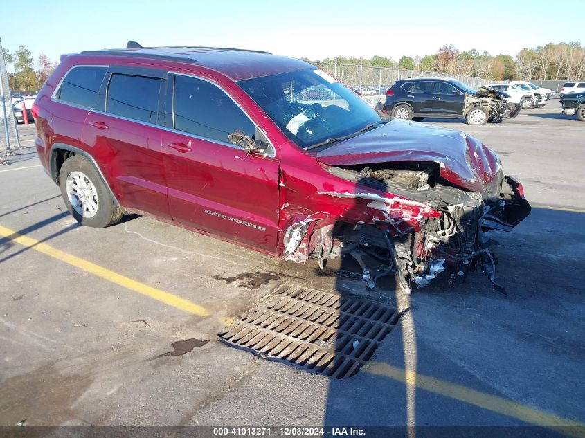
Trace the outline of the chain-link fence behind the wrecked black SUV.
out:
[[[397,80],[408,79],[410,77],[452,77],[475,89],[494,83],[493,80],[482,79],[480,77],[447,75],[436,71],[403,70],[352,64],[327,64],[325,62],[312,62],[312,64],[318,66],[319,69],[327,71],[345,85],[361,91],[363,95],[369,95],[372,91],[376,95],[382,95]]]

